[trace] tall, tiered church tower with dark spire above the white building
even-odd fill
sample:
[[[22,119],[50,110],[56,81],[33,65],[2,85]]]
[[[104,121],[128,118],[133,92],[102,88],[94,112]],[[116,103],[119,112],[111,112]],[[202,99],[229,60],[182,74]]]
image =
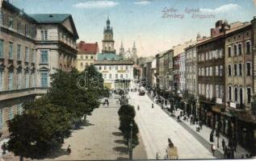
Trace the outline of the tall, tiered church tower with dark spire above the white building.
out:
[[[107,27],[104,27],[103,32],[103,50],[102,52],[115,53],[114,48],[114,39],[113,39],[113,30],[110,27],[110,20],[107,17]]]

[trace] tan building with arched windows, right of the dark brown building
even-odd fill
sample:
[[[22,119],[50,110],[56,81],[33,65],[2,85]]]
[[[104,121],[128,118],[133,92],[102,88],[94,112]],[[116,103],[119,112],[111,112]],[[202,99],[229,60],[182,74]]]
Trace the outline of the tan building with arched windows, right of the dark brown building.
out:
[[[225,102],[235,118],[231,120],[232,137],[242,146],[254,147],[255,125],[248,117],[253,93],[252,25],[231,23],[225,35]],[[225,131],[226,133],[228,131]]]

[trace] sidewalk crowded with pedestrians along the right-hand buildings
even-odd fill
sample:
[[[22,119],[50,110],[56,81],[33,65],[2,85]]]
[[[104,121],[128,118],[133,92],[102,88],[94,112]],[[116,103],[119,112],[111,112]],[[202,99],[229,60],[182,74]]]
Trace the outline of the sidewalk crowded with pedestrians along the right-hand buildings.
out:
[[[220,134],[219,130],[212,130],[208,126],[205,126],[203,130],[204,124],[199,118],[195,118],[193,115],[188,116],[185,110],[177,109],[175,105],[170,105],[170,101],[161,96],[153,96],[152,93],[148,93],[148,95],[154,102],[160,105],[162,109],[166,110],[170,116],[177,118],[177,122],[184,122],[191,130],[195,130],[199,136],[208,141],[208,143],[211,144],[212,155],[214,155],[215,151],[220,151],[225,159],[252,158],[252,155],[248,151],[237,145],[237,142],[233,139],[228,139]]]

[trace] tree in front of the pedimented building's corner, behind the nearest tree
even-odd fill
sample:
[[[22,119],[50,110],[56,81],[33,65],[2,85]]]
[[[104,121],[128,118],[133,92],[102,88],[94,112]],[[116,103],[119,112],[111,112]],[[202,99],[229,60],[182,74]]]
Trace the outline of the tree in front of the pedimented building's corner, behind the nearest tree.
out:
[[[57,70],[51,75],[51,88],[48,91],[50,102],[65,107],[74,121],[90,115],[93,109],[99,107],[99,92],[78,88],[78,77],[83,76],[82,74],[76,69],[70,72]],[[90,74],[92,76],[94,73]]]

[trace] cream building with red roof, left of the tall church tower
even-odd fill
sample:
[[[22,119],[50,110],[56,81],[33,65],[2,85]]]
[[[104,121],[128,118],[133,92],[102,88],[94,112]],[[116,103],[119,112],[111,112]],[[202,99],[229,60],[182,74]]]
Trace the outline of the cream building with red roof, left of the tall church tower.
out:
[[[98,43],[85,43],[80,41],[78,43],[78,71],[83,71],[89,65],[94,64],[94,60],[97,59],[99,53]]]

